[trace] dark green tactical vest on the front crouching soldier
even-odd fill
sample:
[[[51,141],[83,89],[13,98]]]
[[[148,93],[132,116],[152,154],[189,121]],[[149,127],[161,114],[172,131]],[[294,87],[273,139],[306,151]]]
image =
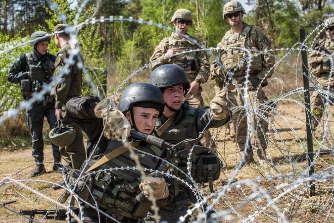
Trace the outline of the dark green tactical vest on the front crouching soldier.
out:
[[[116,140],[109,140],[105,154],[114,151],[123,144]],[[153,146],[137,146],[137,149],[160,157],[162,151]],[[141,165],[145,168],[155,169],[159,160],[136,152],[139,156]],[[98,169],[108,169],[111,167],[124,167],[122,170],[102,171],[96,174],[92,194],[100,208],[105,209],[106,213],[111,217],[122,221],[124,217],[137,219],[133,216],[136,207],[136,195],[139,194],[139,184],[141,182],[141,175],[138,170],[127,169],[126,167],[136,167],[135,161],[130,158],[130,152],[106,162]],[[148,172],[147,172],[148,174]]]

